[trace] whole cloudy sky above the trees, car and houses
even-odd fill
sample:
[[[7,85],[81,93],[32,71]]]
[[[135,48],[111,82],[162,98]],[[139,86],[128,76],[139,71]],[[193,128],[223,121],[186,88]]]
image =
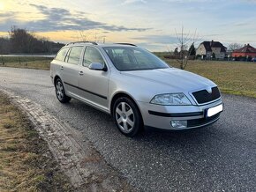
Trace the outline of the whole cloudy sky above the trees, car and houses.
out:
[[[0,36],[11,26],[49,41],[130,42],[151,51],[176,48],[183,27],[196,46],[256,47],[256,0],[0,0]]]

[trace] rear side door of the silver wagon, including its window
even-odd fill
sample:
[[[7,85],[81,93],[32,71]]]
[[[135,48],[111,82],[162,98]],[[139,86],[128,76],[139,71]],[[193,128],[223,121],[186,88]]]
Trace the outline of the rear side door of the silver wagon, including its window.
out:
[[[78,95],[79,63],[83,46],[74,46],[69,50],[63,63],[63,83],[68,95]]]

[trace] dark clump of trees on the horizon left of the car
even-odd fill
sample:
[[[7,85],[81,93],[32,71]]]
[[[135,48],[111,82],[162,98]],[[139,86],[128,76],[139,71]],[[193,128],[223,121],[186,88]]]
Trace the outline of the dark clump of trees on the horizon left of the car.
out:
[[[0,37],[0,54],[56,54],[63,43],[38,38],[26,29],[11,27],[9,37]]]

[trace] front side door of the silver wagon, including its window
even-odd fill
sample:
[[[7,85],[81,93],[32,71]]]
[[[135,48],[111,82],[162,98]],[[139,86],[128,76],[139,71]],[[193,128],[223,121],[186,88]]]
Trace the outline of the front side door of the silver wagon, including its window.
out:
[[[91,63],[106,62],[99,49],[87,46],[79,66],[80,95],[96,107],[103,110],[108,108],[109,74],[110,70],[89,70]]]

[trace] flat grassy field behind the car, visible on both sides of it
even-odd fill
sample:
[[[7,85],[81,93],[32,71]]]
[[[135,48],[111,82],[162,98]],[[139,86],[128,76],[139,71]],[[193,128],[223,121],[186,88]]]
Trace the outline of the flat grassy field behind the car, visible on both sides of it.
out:
[[[176,60],[164,59],[166,53],[154,53],[166,63],[179,68]],[[5,58],[6,59],[6,58]],[[4,65],[8,67],[21,67],[31,69],[49,70],[50,58],[45,57],[22,57],[8,58]],[[213,80],[224,93],[244,95],[256,98],[256,63],[250,62],[222,62],[222,61],[189,61],[185,70],[197,73],[205,78]]]

